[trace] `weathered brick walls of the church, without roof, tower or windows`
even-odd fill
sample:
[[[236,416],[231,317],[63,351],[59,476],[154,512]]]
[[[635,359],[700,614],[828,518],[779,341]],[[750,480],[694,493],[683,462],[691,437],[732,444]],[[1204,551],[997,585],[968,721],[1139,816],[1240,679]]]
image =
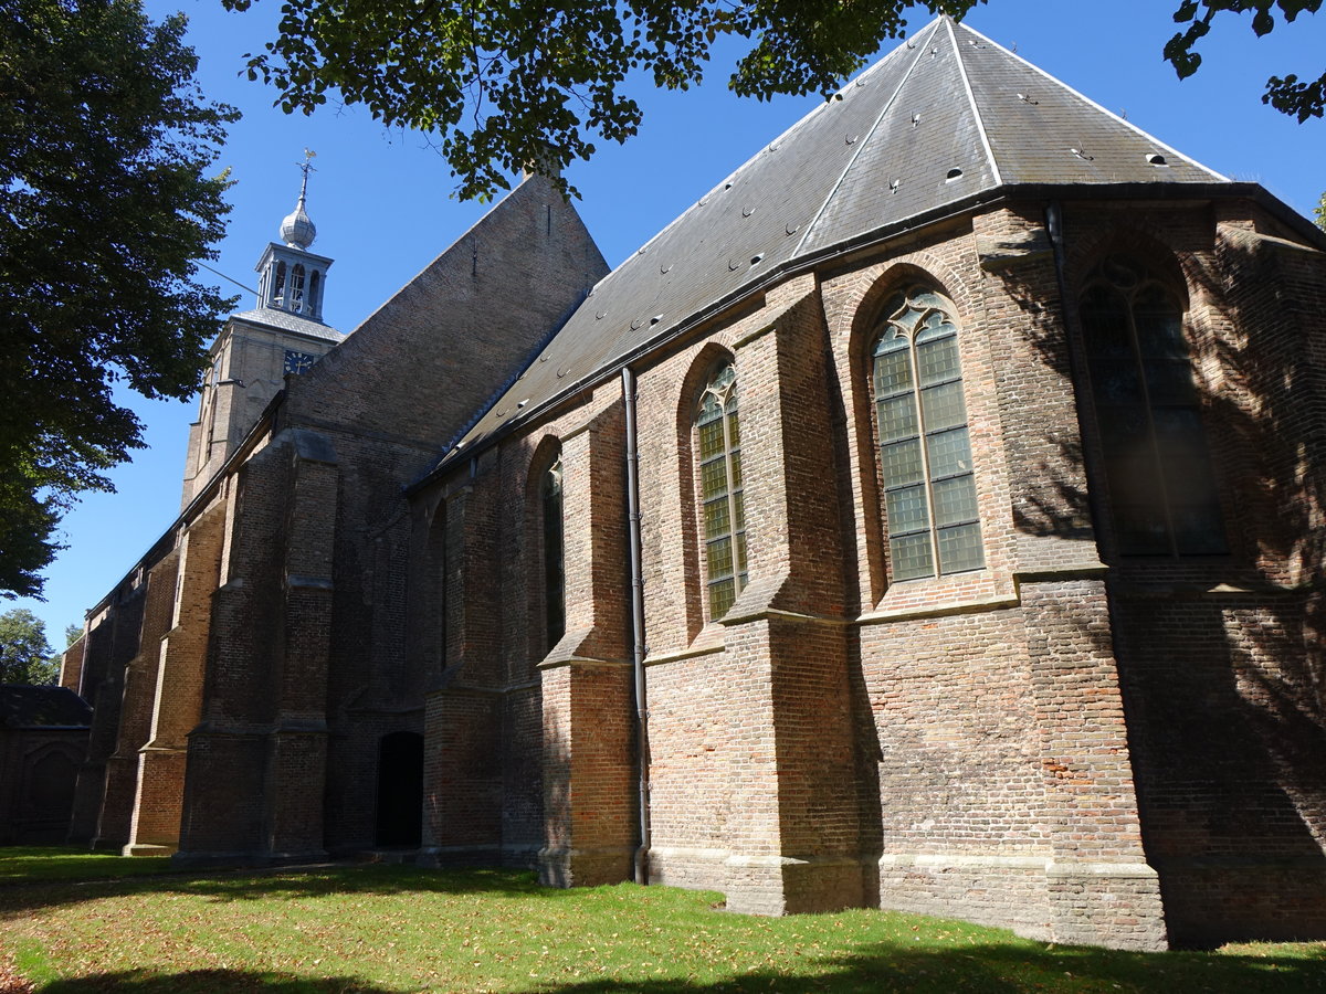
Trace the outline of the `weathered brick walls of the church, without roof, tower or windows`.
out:
[[[89,622],[74,838],[281,860],[416,828],[424,864],[761,914],[1326,934],[1326,253],[1242,195],[1018,190],[780,272],[457,451],[603,272],[522,186],[286,382]],[[1113,253],[1181,302],[1228,553],[1120,551],[1078,304]],[[918,288],[955,311],[983,563],[900,580],[873,357]],[[747,582],[715,616],[697,414],[729,364]]]

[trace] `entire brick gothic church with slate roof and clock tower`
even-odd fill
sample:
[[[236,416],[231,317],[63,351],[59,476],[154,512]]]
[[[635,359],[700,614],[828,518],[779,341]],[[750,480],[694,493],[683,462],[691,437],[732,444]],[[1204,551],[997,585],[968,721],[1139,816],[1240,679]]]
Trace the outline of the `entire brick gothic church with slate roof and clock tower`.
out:
[[[1326,936],[1326,239],[937,20],[617,269],[305,199],[88,615],[70,838]]]

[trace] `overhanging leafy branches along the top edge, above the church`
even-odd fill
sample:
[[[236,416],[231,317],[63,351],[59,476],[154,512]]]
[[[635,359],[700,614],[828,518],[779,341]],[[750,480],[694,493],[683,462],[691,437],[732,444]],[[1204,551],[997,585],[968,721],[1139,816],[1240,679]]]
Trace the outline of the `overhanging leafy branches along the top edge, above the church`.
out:
[[[961,17],[984,0],[922,0]],[[223,0],[248,9],[255,0]],[[1180,77],[1220,15],[1252,16],[1257,34],[1321,0],[1181,0],[1187,28],[1164,57]],[[629,77],[686,89],[715,42],[747,38],[729,86],[741,95],[831,94],[882,41],[906,29],[907,0],[282,0],[277,37],[249,56],[249,78],[276,86],[286,111],[330,94],[383,123],[430,131],[463,199],[488,199],[522,168],[557,176],[595,140],[640,125]],[[1266,99],[1299,119],[1322,113],[1322,81],[1273,78]],[[561,180],[558,180],[561,182]],[[566,190],[565,183],[562,184]]]

